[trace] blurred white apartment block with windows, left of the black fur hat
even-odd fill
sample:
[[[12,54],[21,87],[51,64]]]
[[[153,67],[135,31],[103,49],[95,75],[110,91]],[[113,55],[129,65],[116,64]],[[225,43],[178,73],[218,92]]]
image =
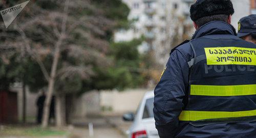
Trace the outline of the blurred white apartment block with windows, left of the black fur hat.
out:
[[[114,41],[130,41],[143,35],[145,41],[139,46],[139,51],[154,51],[156,60],[164,66],[168,59],[166,51],[172,49],[170,38],[179,35],[182,39],[183,30],[179,21],[181,18],[188,19],[189,6],[194,0],[123,0],[123,2],[131,9],[128,18],[133,21],[133,26],[130,30],[115,32]],[[192,25],[191,22],[190,24]]]

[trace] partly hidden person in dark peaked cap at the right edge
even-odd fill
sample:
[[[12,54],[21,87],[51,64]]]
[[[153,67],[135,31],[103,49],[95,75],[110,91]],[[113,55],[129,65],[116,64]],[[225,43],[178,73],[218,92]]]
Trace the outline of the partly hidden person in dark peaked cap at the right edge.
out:
[[[256,14],[240,19],[238,22],[238,37],[256,44]]]

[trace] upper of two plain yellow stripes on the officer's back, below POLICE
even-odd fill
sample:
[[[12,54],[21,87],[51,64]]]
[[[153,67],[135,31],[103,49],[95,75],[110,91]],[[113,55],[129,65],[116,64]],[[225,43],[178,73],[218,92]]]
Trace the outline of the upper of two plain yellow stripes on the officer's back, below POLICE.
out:
[[[256,95],[256,85],[237,85],[237,86],[191,85],[190,95],[202,95],[202,96]]]

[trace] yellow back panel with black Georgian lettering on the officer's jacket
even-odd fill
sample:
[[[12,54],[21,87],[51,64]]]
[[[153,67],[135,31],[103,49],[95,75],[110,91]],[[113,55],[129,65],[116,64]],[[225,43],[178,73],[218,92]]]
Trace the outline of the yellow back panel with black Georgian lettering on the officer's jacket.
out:
[[[204,48],[207,65],[254,65],[256,48],[210,47]]]

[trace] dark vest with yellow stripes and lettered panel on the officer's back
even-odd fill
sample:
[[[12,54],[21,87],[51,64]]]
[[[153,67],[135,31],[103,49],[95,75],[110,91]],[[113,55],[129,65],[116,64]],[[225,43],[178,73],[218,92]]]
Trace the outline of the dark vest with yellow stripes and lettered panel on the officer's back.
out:
[[[223,37],[190,41],[195,58],[180,121],[256,116],[256,46]]]

